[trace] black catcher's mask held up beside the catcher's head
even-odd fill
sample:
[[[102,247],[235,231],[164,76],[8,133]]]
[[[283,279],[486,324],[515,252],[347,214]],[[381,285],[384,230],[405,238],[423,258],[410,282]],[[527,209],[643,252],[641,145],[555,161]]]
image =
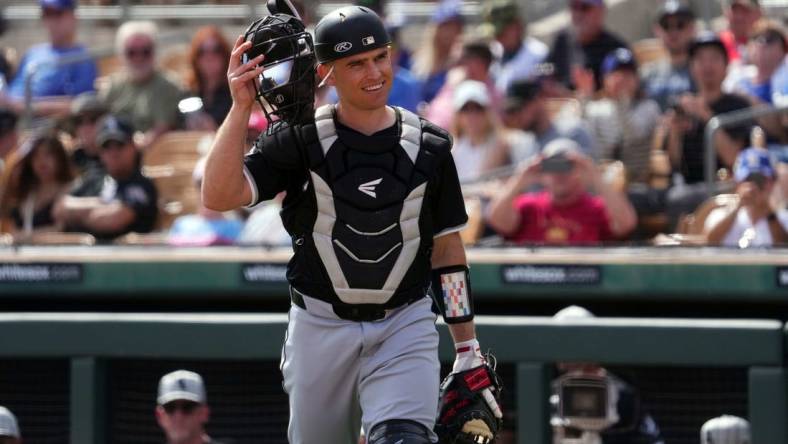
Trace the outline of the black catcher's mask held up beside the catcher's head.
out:
[[[269,133],[279,128],[281,122],[295,124],[313,118],[315,100],[312,36],[298,17],[271,12],[272,15],[255,21],[246,30],[244,39],[252,42],[252,47],[243,58],[246,63],[260,54],[265,56],[261,63],[264,70],[254,86],[269,123]]]

